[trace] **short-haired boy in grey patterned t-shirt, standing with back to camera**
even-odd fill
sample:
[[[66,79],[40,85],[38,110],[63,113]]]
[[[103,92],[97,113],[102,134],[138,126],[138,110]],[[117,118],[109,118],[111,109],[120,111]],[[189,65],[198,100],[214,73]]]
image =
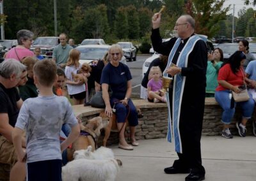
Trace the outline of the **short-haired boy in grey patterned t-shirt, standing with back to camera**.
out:
[[[19,162],[26,158],[28,180],[61,180],[61,152],[79,136],[79,124],[68,99],[52,92],[56,79],[54,62],[36,62],[34,80],[40,93],[24,101],[12,133]],[[60,144],[60,130],[65,123],[72,130]],[[21,147],[24,129],[26,152]]]

